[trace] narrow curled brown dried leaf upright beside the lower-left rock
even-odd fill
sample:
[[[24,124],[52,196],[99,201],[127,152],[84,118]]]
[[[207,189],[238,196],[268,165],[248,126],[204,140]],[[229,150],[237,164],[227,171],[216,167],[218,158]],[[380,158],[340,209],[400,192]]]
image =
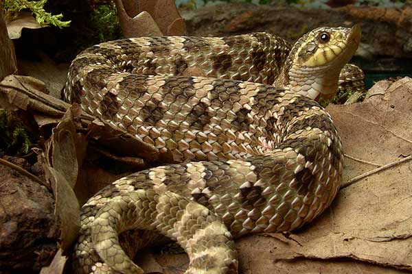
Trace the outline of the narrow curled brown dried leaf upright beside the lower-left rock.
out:
[[[60,246],[67,251],[78,235],[80,206],[73,191],[77,182],[79,162],[85,155],[87,140],[76,133],[76,122],[81,114],[79,105],[72,105],[53,129],[46,143],[47,178],[54,190],[55,214],[60,219]]]

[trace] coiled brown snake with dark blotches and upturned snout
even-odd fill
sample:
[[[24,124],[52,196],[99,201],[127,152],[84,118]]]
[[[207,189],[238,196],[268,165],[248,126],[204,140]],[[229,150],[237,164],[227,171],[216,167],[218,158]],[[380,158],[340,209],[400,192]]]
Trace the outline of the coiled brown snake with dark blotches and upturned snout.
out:
[[[319,27],[293,47],[253,33],[126,38],[82,51],[65,100],[173,161],[82,206],[76,273],[144,273],[134,250],[159,236],[183,247],[186,274],[238,273],[234,239],[319,216],[339,190],[343,154],[315,100],[336,92],[360,39],[358,26]],[[131,248],[119,241],[128,232],[139,235],[126,240]]]

